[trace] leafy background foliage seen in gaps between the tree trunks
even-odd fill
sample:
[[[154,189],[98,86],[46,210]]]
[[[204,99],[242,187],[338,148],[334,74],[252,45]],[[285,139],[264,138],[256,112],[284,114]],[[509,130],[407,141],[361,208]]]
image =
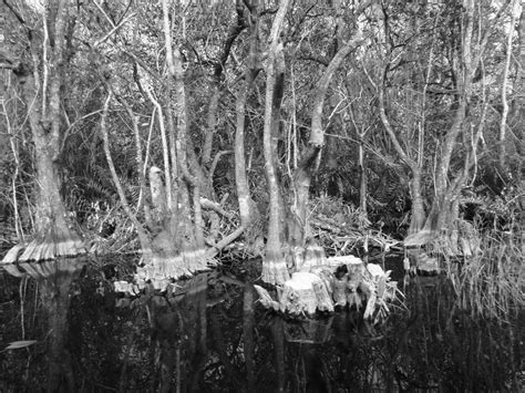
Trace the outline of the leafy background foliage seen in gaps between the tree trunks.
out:
[[[187,91],[188,91],[188,113],[191,114],[191,134],[193,145],[196,147],[197,156],[202,153],[200,146],[206,137],[206,116],[208,101],[212,89],[214,87],[214,72],[218,66],[218,61],[223,55],[223,39],[228,34],[230,25],[228,24],[231,15],[236,14],[233,3],[216,2],[210,8],[202,8],[195,4],[187,12],[188,23],[185,27],[185,35],[181,39],[183,55],[187,66]],[[483,2],[480,7],[487,10],[491,8]],[[97,46],[96,50],[90,48],[86,43],[96,42],[112,29],[111,23],[126,18],[126,13],[140,14],[141,18],[132,20],[114,35]],[[29,11],[24,11],[29,12]],[[310,122],[311,96],[317,75],[322,71],[322,61],[329,59],[333,52],[336,43],[332,40],[330,8],[323,8],[313,2],[296,4],[290,12],[291,23],[289,45],[294,48],[289,53],[290,66],[287,70],[287,89],[284,99],[284,124],[279,139],[284,144],[297,143],[300,145],[306,141],[308,124]],[[461,9],[452,3],[429,3],[426,6],[410,6],[404,2],[390,2],[383,10],[390,17],[389,33],[393,41],[392,53],[389,55],[398,56],[399,62],[391,65],[394,71],[391,72],[390,86],[392,94],[397,94],[394,102],[389,107],[389,115],[392,123],[399,127],[400,137],[408,145],[413,143],[416,137],[416,126],[419,116],[425,122],[423,126],[428,130],[429,137],[425,138],[425,159],[432,159],[432,151],[436,148],[436,143],[443,130],[451,122],[454,113],[453,95],[446,93],[446,89],[453,89],[454,75],[451,73],[451,56],[454,53],[451,50],[456,49],[457,34],[461,25],[459,18]],[[29,14],[29,13],[28,13]],[[119,15],[119,17],[117,17]],[[378,15],[374,12],[367,14],[370,25],[368,29],[374,31],[374,25],[379,23]],[[78,9],[76,18],[79,25],[73,30],[70,38],[74,42],[69,58],[70,64],[66,69],[64,85],[72,86],[66,91],[63,99],[64,115],[68,120],[68,132],[64,141],[64,152],[62,154],[62,166],[66,170],[64,174],[68,179],[65,187],[79,188],[76,190],[64,190],[72,200],[70,208],[82,215],[87,206],[102,197],[104,201],[115,204],[114,190],[111,186],[110,176],[105,168],[105,159],[101,154],[101,142],[96,130],[102,97],[104,95],[103,81],[101,76],[112,79],[112,84],[122,95],[123,100],[133,103],[133,110],[140,115],[142,122],[151,120],[152,106],[145,97],[136,81],[142,80],[146,84],[163,93],[163,86],[153,77],[147,77],[141,68],[136,70],[136,64],[127,53],[141,58],[153,72],[162,72],[162,66],[155,53],[162,48],[163,42],[161,27],[161,9],[158,4],[146,4],[144,2],[134,4],[126,10],[123,2],[104,3],[101,8],[95,4],[83,3]],[[343,15],[348,22],[352,19],[349,14]],[[113,22],[112,22],[113,20]],[[262,23],[262,33],[268,29],[271,14],[265,14]],[[202,31],[200,25],[206,21],[207,29]],[[437,23],[437,21],[441,21]],[[16,23],[13,22],[13,25]],[[449,29],[453,29],[451,34]],[[179,27],[177,27],[179,28]],[[19,33],[13,30],[10,34]],[[374,32],[377,33],[377,32]],[[502,25],[496,27],[491,35],[486,50],[485,72],[488,75],[498,75],[501,73],[502,46],[498,41],[503,39],[504,31]],[[305,40],[308,37],[308,40]],[[13,35],[12,39],[18,39]],[[374,44],[372,41],[367,43],[366,55],[359,54],[357,60],[362,60],[369,68],[361,69],[354,62],[349,62],[337,76],[337,84],[332,87],[331,94],[336,97],[334,103],[330,103],[327,132],[337,137],[348,137],[348,139],[337,139],[337,148],[328,152],[323,156],[318,182],[315,186],[315,194],[328,192],[330,195],[343,197],[347,201],[356,204],[359,194],[359,183],[356,176],[356,155],[357,155],[357,132],[351,122],[350,113],[344,108],[351,107],[352,116],[357,125],[362,130],[369,130],[367,143],[368,165],[367,170],[370,175],[368,187],[368,198],[374,220],[382,220],[391,229],[403,229],[405,214],[408,211],[408,185],[405,169],[394,163],[392,146],[389,143],[384,131],[382,130],[377,113],[370,111],[374,106],[375,92],[369,83],[368,76],[373,76],[377,65],[381,59],[381,42]],[[433,48],[433,61],[429,64],[429,50]],[[220,96],[216,135],[214,137],[214,152],[222,152],[231,146],[231,131],[235,114],[235,100],[226,91],[229,89],[236,93],[236,75],[243,69],[245,56],[248,49],[248,40],[244,32],[240,33],[237,41],[231,45],[233,56],[228,56],[222,65],[222,85],[223,94]],[[319,58],[313,54],[319,53]],[[422,55],[414,58],[414,53]],[[362,59],[359,56],[362,55]],[[498,61],[500,59],[500,61]],[[219,64],[220,65],[220,64]],[[430,70],[431,81],[425,82],[426,73]],[[148,82],[147,82],[148,80]],[[429,83],[426,96],[423,96],[422,86]],[[490,100],[497,106],[498,93],[496,77],[488,79],[487,86],[491,90]],[[250,92],[248,100],[247,117],[249,120],[249,133],[246,143],[249,146],[248,154],[253,162],[249,178],[255,187],[253,193],[256,196],[261,195],[257,187],[264,186],[262,173],[255,169],[256,165],[260,168],[261,164],[261,89],[262,79],[256,80],[256,86]],[[394,93],[395,92],[395,93]],[[158,95],[161,95],[158,94]],[[481,94],[480,91],[476,94]],[[337,102],[341,97],[340,102]],[[426,106],[421,107],[420,103],[425,100]],[[478,100],[478,97],[477,97]],[[333,105],[336,105],[333,107]],[[347,105],[347,106],[344,106]],[[16,112],[20,112],[18,106]],[[481,104],[473,102],[471,112],[474,116],[480,116]],[[19,115],[17,115],[19,116]],[[18,118],[11,116],[11,120]],[[340,120],[338,120],[340,117]],[[487,145],[493,145],[497,139],[497,113],[490,112],[490,121],[486,123],[485,141]],[[136,172],[134,166],[134,145],[128,132],[130,120],[125,118],[122,112],[115,113],[113,125],[111,127],[111,139],[113,145],[113,159],[116,168],[121,172],[123,178],[133,182],[135,185]],[[141,130],[143,143],[146,143],[148,135],[148,124]],[[156,126],[155,126],[156,127]],[[152,164],[159,166],[161,149],[158,133],[154,127]],[[289,134],[294,131],[296,141],[290,141]],[[342,141],[342,142],[341,142]],[[341,142],[341,143],[339,143]],[[23,149],[22,149],[23,152]],[[428,153],[428,154],[426,154]],[[457,151],[461,157],[464,152]],[[286,154],[290,154],[289,152]],[[490,155],[491,151],[484,151],[482,154]],[[28,164],[30,156],[22,157],[22,163]],[[291,161],[299,157],[288,156]],[[332,165],[337,163],[336,165]],[[392,166],[394,164],[394,166]],[[426,165],[426,164],[425,164]],[[491,162],[484,159],[480,165],[491,166]],[[282,168],[282,175],[286,177],[286,167]],[[481,167],[480,169],[483,169]],[[216,187],[218,194],[235,193],[231,182],[233,166],[223,165],[220,178],[217,177]],[[24,170],[25,172],[25,170]],[[104,174],[105,172],[105,174]],[[391,174],[394,172],[395,174]],[[131,175],[131,176],[130,176]],[[227,179],[224,182],[223,179]],[[8,190],[9,179],[3,179],[2,190]],[[27,182],[27,179],[20,179]],[[330,187],[333,188],[330,192]],[[425,185],[425,193],[431,196],[432,184]],[[75,194],[73,197],[72,194]],[[113,194],[110,197],[109,194]],[[264,193],[262,193],[264,194]],[[136,194],[135,194],[136,197]],[[20,198],[24,204],[24,198]],[[75,200],[76,199],[76,200]],[[429,206],[429,200],[426,200]],[[410,205],[409,205],[410,206]],[[392,221],[392,223],[391,223]]]

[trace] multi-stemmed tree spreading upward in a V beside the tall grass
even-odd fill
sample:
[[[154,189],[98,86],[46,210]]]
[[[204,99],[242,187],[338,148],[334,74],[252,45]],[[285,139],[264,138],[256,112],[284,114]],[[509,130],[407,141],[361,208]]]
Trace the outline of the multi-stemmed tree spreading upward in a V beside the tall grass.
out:
[[[405,12],[404,18],[390,18],[393,9],[400,6]],[[477,145],[485,127],[487,86],[484,64],[490,55],[486,48],[488,38],[507,6],[508,2],[494,10],[490,3],[475,7],[473,1],[464,1],[462,7],[394,3],[390,11],[388,8],[380,11],[382,22],[379,30],[383,32],[380,33],[381,46],[387,49],[387,54],[379,76],[379,113],[394,152],[411,173],[412,220],[409,234],[412,236],[406,244],[425,244],[442,236],[446,239],[446,248],[454,254],[461,251],[456,248],[460,195],[471,178],[471,170],[478,155]],[[486,13],[482,14],[482,10],[486,10]],[[422,17],[433,19],[432,24],[426,24],[431,29],[423,28],[420,22]],[[441,24],[440,20],[447,22]],[[440,31],[442,25],[447,25],[446,29],[452,27],[455,33],[445,35]],[[405,41],[399,40],[400,35],[392,31],[394,27],[404,32],[419,31],[423,33],[422,39],[415,40],[415,35],[409,35]],[[420,45],[424,44],[424,40],[430,40],[430,44],[426,44],[428,55],[423,56],[428,60],[419,74],[411,74],[408,66],[418,64],[411,51],[418,48],[418,56],[421,58],[423,48]],[[400,81],[411,83],[412,87],[405,90]],[[447,82],[444,84],[443,81]],[[394,86],[398,84],[401,87],[395,91]],[[436,89],[443,84],[449,91]],[[389,90],[393,91],[392,95],[388,93]],[[400,91],[403,91],[403,97],[419,91],[420,99],[406,100],[406,105],[397,105],[394,96]],[[446,95],[450,97],[444,99]],[[441,99],[435,99],[436,96]],[[434,128],[429,121],[433,108],[426,105],[432,101],[439,104],[434,106],[436,114],[444,111],[450,113],[443,116],[445,125],[440,124],[445,127],[445,132]],[[478,103],[475,108],[474,102]],[[445,105],[449,105],[449,110]],[[414,112],[419,113],[415,120],[412,117]],[[478,114],[477,118],[474,113]],[[399,130],[392,126],[394,114],[400,115],[395,120]],[[423,178],[429,175],[433,179],[431,193],[423,188]],[[431,195],[428,214],[424,209],[425,194]],[[422,229],[424,230],[420,231]],[[469,255],[470,247],[465,247],[463,251]]]

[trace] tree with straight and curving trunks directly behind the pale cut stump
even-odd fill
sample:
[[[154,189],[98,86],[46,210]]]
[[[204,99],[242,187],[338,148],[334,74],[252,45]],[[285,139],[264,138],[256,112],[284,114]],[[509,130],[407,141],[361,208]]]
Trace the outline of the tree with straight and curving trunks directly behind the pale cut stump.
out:
[[[282,4],[281,4],[282,6]],[[285,3],[286,6],[286,3]],[[368,7],[364,2],[356,10],[359,15]],[[279,8],[281,11],[281,8]],[[266,107],[265,107],[265,167],[268,183],[268,194],[270,199],[268,241],[262,265],[262,280],[270,283],[282,283],[289,277],[289,271],[300,270],[310,265],[322,262],[323,252],[318,255],[318,246],[310,235],[308,223],[308,201],[310,196],[310,182],[319,165],[319,156],[325,144],[325,132],[322,127],[322,110],[330,81],[342,63],[344,58],[362,43],[362,38],[349,39],[334,53],[327,69],[319,79],[312,102],[311,131],[308,146],[302,153],[300,163],[294,173],[292,200],[286,200],[279,192],[279,184],[276,174],[277,163],[277,132],[278,115],[281,105],[284,77],[285,77],[285,54],[282,44],[277,42],[281,23],[274,20],[270,32],[271,44],[269,49],[266,84]],[[286,206],[288,205],[288,206]],[[287,235],[288,234],[288,238]],[[287,247],[282,247],[286,244]],[[310,252],[307,252],[307,248]]]

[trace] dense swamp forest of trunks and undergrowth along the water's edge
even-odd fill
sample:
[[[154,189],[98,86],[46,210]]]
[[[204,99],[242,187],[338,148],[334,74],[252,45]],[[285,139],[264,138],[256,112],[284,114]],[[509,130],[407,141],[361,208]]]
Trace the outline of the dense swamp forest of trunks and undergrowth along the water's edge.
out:
[[[0,9],[7,261],[141,249],[178,277],[244,237],[281,283],[388,234],[523,301],[519,1]]]

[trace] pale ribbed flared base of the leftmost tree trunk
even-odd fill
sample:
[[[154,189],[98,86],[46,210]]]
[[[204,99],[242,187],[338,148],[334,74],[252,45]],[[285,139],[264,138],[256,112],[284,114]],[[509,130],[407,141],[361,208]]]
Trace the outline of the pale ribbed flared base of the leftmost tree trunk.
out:
[[[11,248],[2,259],[2,265],[16,262],[41,262],[63,257],[76,257],[87,250],[82,239],[74,232],[63,229],[49,230],[29,244]]]

